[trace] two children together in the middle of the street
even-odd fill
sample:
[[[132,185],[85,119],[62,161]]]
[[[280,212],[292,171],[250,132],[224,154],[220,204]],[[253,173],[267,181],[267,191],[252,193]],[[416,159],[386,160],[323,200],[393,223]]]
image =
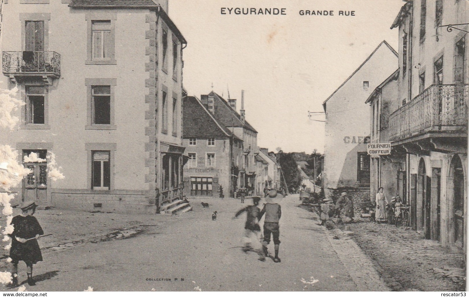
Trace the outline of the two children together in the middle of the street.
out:
[[[265,205],[262,210],[259,209],[258,205],[261,200],[260,197],[253,197],[254,205],[246,206],[239,210],[234,218],[238,217],[243,212],[247,213],[246,224],[244,225],[244,247],[243,251],[247,253],[252,250],[251,239],[255,237],[258,241],[261,241],[262,252],[259,253],[259,260],[265,261],[265,257],[269,257],[267,246],[270,243],[271,235],[273,237],[275,256],[273,261],[275,263],[280,262],[279,258],[279,247],[280,247],[280,226],[279,220],[282,215],[280,201],[283,195],[277,193],[276,190],[270,190],[265,196]],[[264,216],[264,238],[261,239],[261,228],[259,226],[259,220]]]

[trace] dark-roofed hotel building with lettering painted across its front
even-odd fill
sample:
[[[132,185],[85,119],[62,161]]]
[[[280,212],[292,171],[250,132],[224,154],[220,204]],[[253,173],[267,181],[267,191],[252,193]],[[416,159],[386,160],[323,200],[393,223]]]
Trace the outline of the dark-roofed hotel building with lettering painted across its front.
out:
[[[242,165],[242,140],[220,124],[209,108],[196,97],[183,99],[186,196],[219,197],[219,186],[224,196],[230,196],[237,182],[235,167]]]

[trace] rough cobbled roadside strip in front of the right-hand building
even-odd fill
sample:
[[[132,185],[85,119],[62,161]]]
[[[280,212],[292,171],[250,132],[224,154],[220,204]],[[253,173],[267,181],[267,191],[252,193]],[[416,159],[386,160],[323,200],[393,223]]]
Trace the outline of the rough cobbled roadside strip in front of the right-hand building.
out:
[[[310,211],[315,212],[313,208]],[[464,255],[424,235],[395,225],[377,224],[356,215],[343,225],[328,221],[334,239],[353,239],[372,260],[381,280],[393,291],[465,291]],[[359,257],[357,257],[359,258]]]

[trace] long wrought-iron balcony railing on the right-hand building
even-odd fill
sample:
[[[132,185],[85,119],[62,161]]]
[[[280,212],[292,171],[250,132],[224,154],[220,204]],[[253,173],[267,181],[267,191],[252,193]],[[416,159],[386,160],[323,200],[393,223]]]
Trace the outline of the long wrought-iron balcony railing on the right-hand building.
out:
[[[467,131],[469,85],[431,85],[389,117],[389,140],[427,131]]]

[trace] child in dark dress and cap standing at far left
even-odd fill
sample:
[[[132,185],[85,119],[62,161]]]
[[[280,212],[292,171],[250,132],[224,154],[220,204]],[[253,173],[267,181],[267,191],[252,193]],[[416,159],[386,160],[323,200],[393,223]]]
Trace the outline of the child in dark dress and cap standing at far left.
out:
[[[26,263],[28,274],[28,284],[34,286],[36,282],[32,278],[32,265],[38,261],[42,261],[41,250],[37,238],[43,235],[41,225],[38,220],[33,217],[36,211],[37,204],[34,201],[25,201],[21,210],[23,213],[19,216],[13,217],[11,225],[13,225],[13,233],[9,234],[12,238],[10,248],[10,258],[13,268],[11,274],[13,275],[12,286],[18,285],[18,262],[24,261]]]

